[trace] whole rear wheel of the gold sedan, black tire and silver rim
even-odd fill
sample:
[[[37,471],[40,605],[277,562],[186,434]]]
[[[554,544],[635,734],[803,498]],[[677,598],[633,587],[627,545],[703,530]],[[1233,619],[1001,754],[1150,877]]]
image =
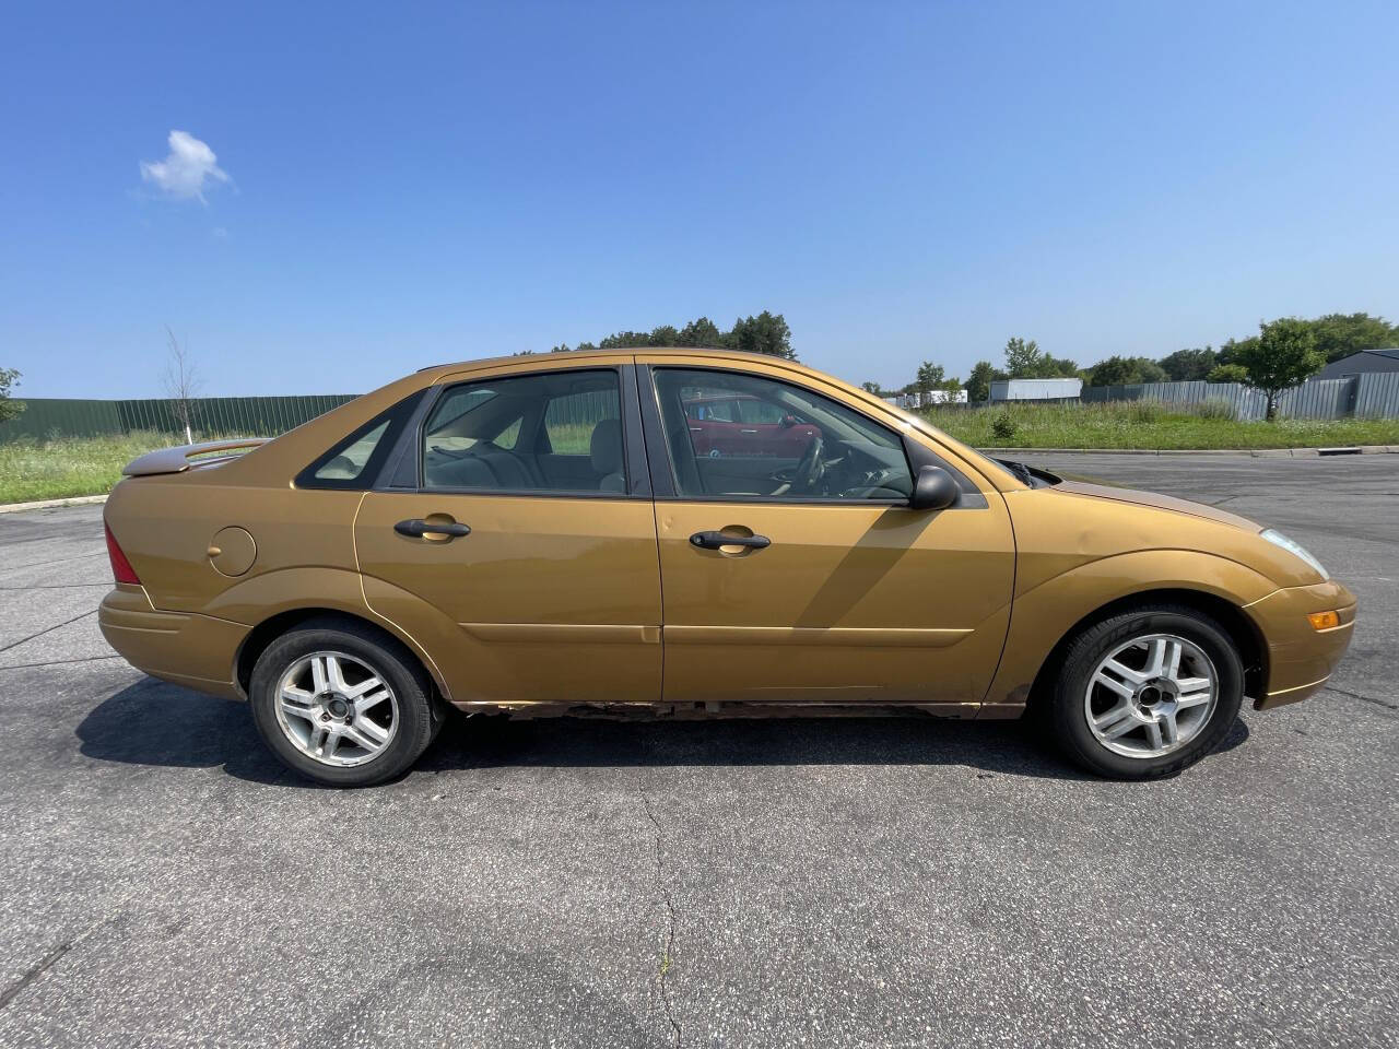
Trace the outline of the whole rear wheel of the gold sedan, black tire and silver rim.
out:
[[[316,692],[318,681],[326,691]],[[311,620],[271,642],[253,666],[248,697],[257,733],[278,761],[329,786],[393,779],[442,727],[431,678],[413,653],[346,620]]]

